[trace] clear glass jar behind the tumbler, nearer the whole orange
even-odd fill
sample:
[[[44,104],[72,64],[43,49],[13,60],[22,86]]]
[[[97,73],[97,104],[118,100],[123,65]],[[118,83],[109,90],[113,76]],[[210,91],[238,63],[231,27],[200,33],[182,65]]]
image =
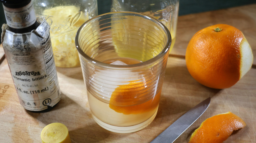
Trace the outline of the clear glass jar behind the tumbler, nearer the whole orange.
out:
[[[163,23],[172,36],[172,50],[176,40],[176,29],[180,0],[112,0],[111,11],[139,12]]]

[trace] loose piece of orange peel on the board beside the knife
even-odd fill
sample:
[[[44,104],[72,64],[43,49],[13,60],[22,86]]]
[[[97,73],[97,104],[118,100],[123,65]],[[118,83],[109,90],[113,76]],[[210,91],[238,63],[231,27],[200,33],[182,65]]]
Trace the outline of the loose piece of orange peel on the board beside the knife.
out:
[[[234,130],[244,128],[246,123],[231,112],[206,119],[191,135],[189,143],[222,143]]]

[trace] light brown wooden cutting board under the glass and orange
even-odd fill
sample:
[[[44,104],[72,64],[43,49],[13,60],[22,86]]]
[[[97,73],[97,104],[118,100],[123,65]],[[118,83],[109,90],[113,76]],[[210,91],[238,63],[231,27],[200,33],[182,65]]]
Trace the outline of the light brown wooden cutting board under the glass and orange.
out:
[[[0,142],[39,143],[42,129],[53,122],[65,124],[73,143],[148,143],[186,111],[211,97],[205,113],[175,143],[186,143],[203,120],[232,112],[246,122],[226,143],[253,143],[256,140],[256,69],[251,68],[234,86],[226,89],[205,87],[187,71],[184,54],[188,41],[200,29],[218,23],[240,29],[256,55],[256,5],[181,16],[177,40],[168,58],[159,111],[146,128],[119,134],[101,128],[91,116],[81,68],[57,68],[61,101],[46,113],[32,113],[20,105],[6,59],[0,64]],[[1,53],[0,47],[0,53]],[[255,64],[255,58],[254,58]]]

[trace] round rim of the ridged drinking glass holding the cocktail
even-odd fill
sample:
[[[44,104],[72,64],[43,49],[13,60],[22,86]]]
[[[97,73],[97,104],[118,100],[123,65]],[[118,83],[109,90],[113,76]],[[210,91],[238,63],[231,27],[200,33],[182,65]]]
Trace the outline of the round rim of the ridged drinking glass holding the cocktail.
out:
[[[95,19],[97,19],[99,17],[102,17],[102,16],[112,15],[112,14],[115,14],[115,13],[130,13],[130,14],[140,15],[140,16],[146,17],[146,19],[149,19],[149,20],[157,23],[158,25],[160,25],[160,27],[162,27],[164,29],[164,31],[166,32],[166,35],[167,35],[167,42],[166,42],[166,45],[163,48],[163,50],[157,56],[154,56],[153,58],[151,58],[151,59],[149,59],[147,61],[144,61],[144,62],[141,62],[141,63],[137,63],[137,64],[131,64],[131,65],[107,64],[107,63],[103,63],[103,62],[100,62],[98,60],[95,60],[95,59],[91,58],[90,56],[88,56],[87,54],[85,54],[82,51],[82,49],[80,48],[80,45],[78,44],[78,37],[79,37],[81,29],[87,23],[89,23],[90,21],[93,21],[93,20],[95,20]],[[89,61],[90,63],[94,63],[94,64],[96,64],[98,66],[105,67],[105,68],[118,68],[118,69],[122,69],[122,68],[124,68],[124,69],[126,69],[126,68],[136,68],[136,67],[146,66],[146,65],[149,65],[151,63],[154,63],[155,61],[159,60],[163,55],[165,55],[167,53],[168,49],[170,49],[171,42],[172,42],[172,38],[171,38],[171,33],[170,33],[169,29],[164,24],[162,24],[159,20],[157,20],[157,19],[155,19],[155,18],[153,18],[151,16],[148,16],[146,14],[142,14],[142,13],[138,13],[138,12],[131,12],[131,11],[115,11],[115,12],[108,12],[108,13],[104,13],[104,14],[100,14],[98,16],[95,16],[95,17],[87,20],[86,22],[84,22],[79,27],[79,29],[77,30],[76,35],[75,35],[75,46],[76,46],[76,49],[77,49],[78,53],[80,54],[80,56],[83,56],[87,61]]]

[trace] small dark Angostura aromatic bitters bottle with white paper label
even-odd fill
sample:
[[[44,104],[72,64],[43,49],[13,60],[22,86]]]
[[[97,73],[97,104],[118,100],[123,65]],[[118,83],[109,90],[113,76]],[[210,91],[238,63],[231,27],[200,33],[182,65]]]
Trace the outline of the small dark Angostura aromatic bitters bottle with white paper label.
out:
[[[20,104],[32,112],[46,112],[61,97],[50,26],[37,19],[31,0],[1,0],[7,25],[2,44]]]

